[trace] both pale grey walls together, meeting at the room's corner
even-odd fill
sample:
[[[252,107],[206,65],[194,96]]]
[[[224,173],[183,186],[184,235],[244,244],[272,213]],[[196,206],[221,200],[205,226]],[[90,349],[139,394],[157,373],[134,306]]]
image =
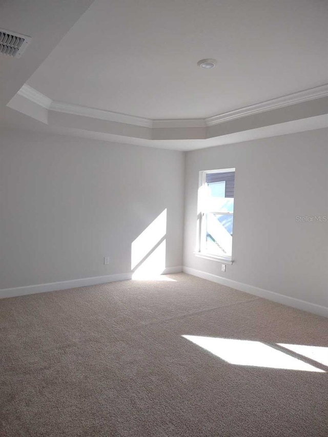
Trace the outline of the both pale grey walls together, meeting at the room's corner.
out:
[[[188,152],[0,133],[0,289],[128,273],[165,209],[166,266],[328,307],[328,130]],[[195,257],[198,172],[236,168],[233,265]],[[186,186],[185,186],[186,182]],[[104,265],[104,256],[110,265]]]

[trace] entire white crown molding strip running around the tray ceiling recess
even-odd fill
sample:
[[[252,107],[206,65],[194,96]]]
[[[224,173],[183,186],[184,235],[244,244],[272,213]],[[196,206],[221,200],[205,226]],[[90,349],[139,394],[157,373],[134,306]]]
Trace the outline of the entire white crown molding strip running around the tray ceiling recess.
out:
[[[215,115],[209,118],[176,120],[152,120],[150,118],[135,117],[133,115],[120,114],[118,112],[111,112],[103,109],[89,108],[86,106],[74,105],[72,103],[55,101],[26,84],[23,85],[23,87],[18,91],[17,94],[33,101],[43,108],[66,114],[80,115],[100,120],[131,124],[133,126],[140,126],[145,128],[204,128],[207,126],[214,126],[215,124],[223,123],[226,121],[231,121],[237,118],[295,105],[296,103],[302,103],[308,100],[326,97],[328,96],[328,84],[316,88],[311,88],[309,90],[300,91],[298,93],[288,94],[264,102],[256,103],[255,105],[239,108],[234,111]]]

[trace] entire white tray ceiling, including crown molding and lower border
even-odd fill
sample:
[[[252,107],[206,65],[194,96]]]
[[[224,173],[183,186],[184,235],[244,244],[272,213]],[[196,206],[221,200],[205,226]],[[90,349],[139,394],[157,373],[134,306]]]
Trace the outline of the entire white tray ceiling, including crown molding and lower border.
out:
[[[0,128],[188,151],[328,127],[327,18],[326,0],[0,2],[32,36],[0,56]]]

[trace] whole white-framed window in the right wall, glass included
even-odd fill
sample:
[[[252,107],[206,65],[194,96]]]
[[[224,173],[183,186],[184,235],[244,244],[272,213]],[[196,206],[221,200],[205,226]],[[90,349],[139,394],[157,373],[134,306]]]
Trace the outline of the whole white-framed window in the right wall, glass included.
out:
[[[196,255],[232,261],[235,169],[199,172]]]

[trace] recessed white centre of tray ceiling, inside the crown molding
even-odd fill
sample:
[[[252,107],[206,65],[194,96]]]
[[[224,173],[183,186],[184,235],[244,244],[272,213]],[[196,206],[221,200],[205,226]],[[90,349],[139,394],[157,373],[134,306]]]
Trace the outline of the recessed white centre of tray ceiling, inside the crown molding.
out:
[[[326,0],[95,0],[27,84],[138,117],[211,117],[326,84],[327,23]],[[197,67],[207,57],[215,69]]]

